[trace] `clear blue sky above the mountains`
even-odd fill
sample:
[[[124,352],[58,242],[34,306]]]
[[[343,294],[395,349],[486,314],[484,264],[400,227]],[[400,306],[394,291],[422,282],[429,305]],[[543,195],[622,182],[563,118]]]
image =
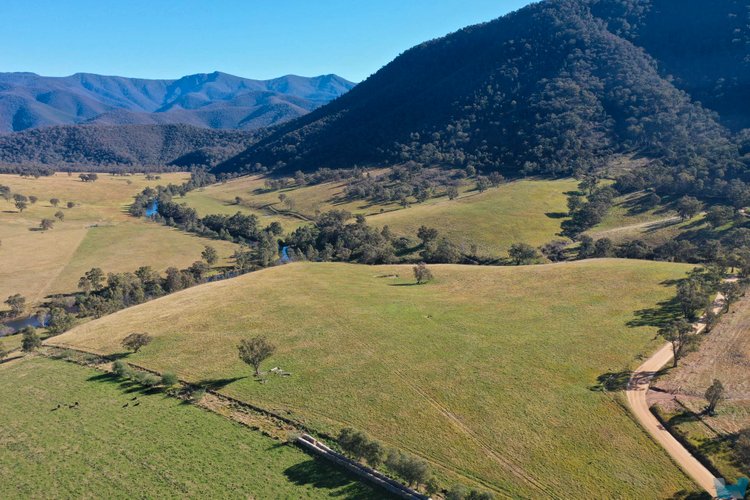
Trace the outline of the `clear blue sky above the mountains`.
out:
[[[530,0],[0,0],[0,71],[175,78],[336,73]]]

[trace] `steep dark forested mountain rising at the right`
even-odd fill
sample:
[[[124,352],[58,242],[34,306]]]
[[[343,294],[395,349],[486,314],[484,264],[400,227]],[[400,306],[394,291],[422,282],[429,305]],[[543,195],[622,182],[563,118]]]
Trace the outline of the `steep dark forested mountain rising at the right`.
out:
[[[547,0],[407,50],[218,172],[406,159],[568,175],[639,155],[651,185],[743,179],[750,1]],[[729,47],[729,48],[728,48]],[[717,90],[718,89],[718,90]],[[641,181],[639,181],[641,182]]]

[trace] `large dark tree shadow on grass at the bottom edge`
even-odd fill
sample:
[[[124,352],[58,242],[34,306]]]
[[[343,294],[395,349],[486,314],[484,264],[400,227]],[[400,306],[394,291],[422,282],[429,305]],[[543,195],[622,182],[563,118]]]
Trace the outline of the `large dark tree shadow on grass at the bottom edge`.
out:
[[[320,458],[311,458],[306,462],[292,465],[284,471],[284,475],[289,481],[300,486],[311,485],[316,489],[338,490],[328,492],[331,496],[376,498],[373,492],[353,475],[333,469],[328,462]],[[377,498],[390,498],[385,491],[377,493]]]

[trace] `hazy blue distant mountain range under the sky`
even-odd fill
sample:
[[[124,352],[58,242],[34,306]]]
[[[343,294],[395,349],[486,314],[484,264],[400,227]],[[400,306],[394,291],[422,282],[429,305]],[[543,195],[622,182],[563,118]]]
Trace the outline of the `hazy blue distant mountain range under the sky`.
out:
[[[353,86],[336,75],[250,80],[214,72],[147,80],[0,73],[0,132],[74,124],[255,130],[305,115]]]

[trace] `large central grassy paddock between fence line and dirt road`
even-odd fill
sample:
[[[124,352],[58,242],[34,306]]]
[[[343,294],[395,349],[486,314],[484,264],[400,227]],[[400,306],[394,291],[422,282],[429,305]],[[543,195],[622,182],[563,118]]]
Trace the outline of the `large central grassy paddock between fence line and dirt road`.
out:
[[[688,266],[291,264],[192,288],[51,339],[104,354],[148,331],[133,362],[287,412],[350,425],[430,460],[446,482],[528,497],[666,497],[691,488],[597,376],[653,350],[647,314]],[[392,277],[399,275],[400,277]],[[242,338],[278,351],[259,384]]]

